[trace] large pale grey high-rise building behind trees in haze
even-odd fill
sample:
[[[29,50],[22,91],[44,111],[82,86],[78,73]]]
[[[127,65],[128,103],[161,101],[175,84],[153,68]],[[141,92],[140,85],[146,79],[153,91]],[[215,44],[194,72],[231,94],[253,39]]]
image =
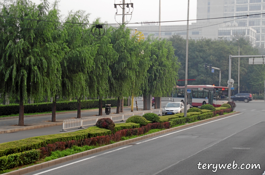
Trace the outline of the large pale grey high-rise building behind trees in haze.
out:
[[[265,0],[197,0],[197,22],[189,26],[189,37],[230,40],[234,35],[245,35],[253,45],[264,47],[265,15],[253,15],[260,13],[265,13]],[[243,15],[253,16],[234,17]],[[137,28],[144,35],[158,36],[157,25],[131,28]],[[169,38],[173,34],[185,38],[186,25],[161,26],[161,38]]]

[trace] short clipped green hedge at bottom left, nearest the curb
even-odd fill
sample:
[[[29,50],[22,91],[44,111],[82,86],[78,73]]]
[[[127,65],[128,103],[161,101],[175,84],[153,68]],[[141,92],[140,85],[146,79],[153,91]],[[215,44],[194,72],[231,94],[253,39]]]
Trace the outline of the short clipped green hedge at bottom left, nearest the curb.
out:
[[[0,171],[36,162],[40,157],[40,150],[32,149],[22,153],[0,157]]]

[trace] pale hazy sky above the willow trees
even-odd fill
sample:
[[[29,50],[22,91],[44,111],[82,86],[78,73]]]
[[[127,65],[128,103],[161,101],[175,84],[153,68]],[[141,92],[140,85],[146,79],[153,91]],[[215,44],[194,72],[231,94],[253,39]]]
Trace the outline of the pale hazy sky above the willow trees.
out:
[[[40,0],[31,0],[39,4]],[[90,13],[90,21],[93,22],[95,18],[100,17],[101,21],[108,21],[108,23],[116,23],[115,13],[118,9],[118,14],[122,14],[122,8],[114,8],[116,4],[121,3],[122,0],[61,0],[60,11],[62,15],[67,15],[69,11],[85,10]],[[53,2],[53,0],[49,0]],[[133,3],[133,13],[130,22],[141,21],[158,21],[159,20],[159,0],[125,0],[125,3]],[[161,0],[161,21],[177,21],[187,19],[188,0]],[[196,19],[197,0],[190,0],[190,20]],[[128,8],[126,8],[128,12]],[[130,7],[130,12],[132,8]],[[127,15],[130,19],[130,15]],[[122,21],[122,16],[116,16],[118,22]],[[125,18],[126,21],[126,18]],[[195,21],[193,21],[195,22]],[[187,22],[170,22],[162,23],[161,25],[185,25]],[[128,25],[137,26],[137,25]]]

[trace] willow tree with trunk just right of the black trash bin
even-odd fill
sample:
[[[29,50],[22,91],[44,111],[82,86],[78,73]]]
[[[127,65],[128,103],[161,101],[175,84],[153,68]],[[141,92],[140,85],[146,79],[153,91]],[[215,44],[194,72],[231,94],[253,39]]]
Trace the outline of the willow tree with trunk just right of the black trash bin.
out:
[[[142,54],[142,50],[136,39],[130,37],[129,29],[124,30],[121,26],[112,30],[111,43],[118,53],[118,59],[110,65],[109,84],[110,94],[118,97],[116,113],[119,113],[120,99],[132,93],[133,83],[137,79],[135,72],[139,70],[139,55]]]

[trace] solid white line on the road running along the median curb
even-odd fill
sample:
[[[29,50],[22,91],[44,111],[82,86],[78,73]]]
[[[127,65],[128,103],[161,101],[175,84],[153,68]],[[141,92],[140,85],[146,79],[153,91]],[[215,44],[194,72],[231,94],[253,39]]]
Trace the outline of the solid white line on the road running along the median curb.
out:
[[[239,113],[239,114],[242,114],[242,113]],[[235,114],[233,116],[237,116],[239,114]],[[229,118],[229,117],[233,117],[233,116],[228,116],[228,117],[225,117],[225,118],[221,118],[221,119],[218,119],[218,120],[214,120],[214,121],[210,121],[208,123],[212,123],[212,122],[215,122],[215,121],[219,121],[219,120],[223,120],[223,119],[226,119],[226,118]],[[205,124],[208,124],[208,123],[204,123],[204,124],[201,124],[201,125],[205,125]],[[198,127],[198,126],[201,126],[201,125],[196,125],[196,126],[192,126],[190,128],[195,128],[195,127]],[[139,142],[139,143],[136,143],[136,144],[141,144],[141,143],[144,143],[144,142],[148,142],[150,140],[155,140],[155,139],[158,139],[160,137],[164,137],[164,136],[167,136],[167,135],[171,135],[171,134],[175,134],[177,132],[181,132],[181,131],[184,131],[184,130],[188,130],[190,128],[186,128],[186,129],[183,129],[183,130],[179,130],[179,131],[176,131],[176,132],[172,132],[172,133],[169,133],[169,134],[166,134],[166,135],[162,135],[162,136],[159,136],[159,137],[156,137],[156,138],[153,138],[153,139],[149,139],[149,140],[145,140],[145,141],[142,141],[142,142]],[[125,146],[125,147],[122,147],[122,148],[119,148],[119,149],[115,149],[115,150],[112,150],[112,151],[108,151],[106,153],[102,153],[102,154],[99,154],[99,155],[96,155],[96,156],[92,156],[92,157],[89,157],[89,158],[85,158],[85,159],[82,159],[82,160],[79,160],[79,161],[76,161],[76,162],[72,162],[72,163],[68,163],[68,164],[65,164],[65,165],[62,165],[60,167],[57,167],[57,168],[52,168],[52,169],[49,169],[49,170],[46,170],[46,171],[43,171],[43,172],[40,172],[40,173],[36,173],[36,174],[33,174],[33,175],[38,175],[38,174],[43,174],[43,173],[47,173],[49,171],[52,171],[52,170],[55,170],[55,169],[59,169],[59,168],[63,168],[63,167],[66,167],[68,165],[72,165],[72,164],[75,164],[75,163],[78,163],[78,162],[82,162],[82,161],[85,161],[85,160],[88,160],[88,159],[91,159],[91,158],[94,158],[94,157],[98,157],[98,156],[101,156],[101,155],[104,155],[104,154],[108,154],[108,153],[112,153],[114,151],[118,151],[120,149],[124,149],[124,148],[128,148],[132,145],[129,145],[129,146]]]

